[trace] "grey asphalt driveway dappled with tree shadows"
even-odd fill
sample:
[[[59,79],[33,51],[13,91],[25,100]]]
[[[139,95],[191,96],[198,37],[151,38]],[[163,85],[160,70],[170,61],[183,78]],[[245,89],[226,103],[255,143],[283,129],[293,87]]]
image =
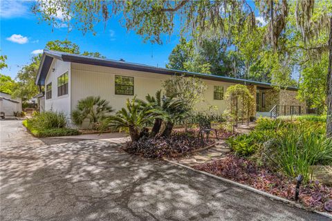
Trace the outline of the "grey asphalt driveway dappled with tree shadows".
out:
[[[1,121],[0,220],[328,220],[194,171]]]

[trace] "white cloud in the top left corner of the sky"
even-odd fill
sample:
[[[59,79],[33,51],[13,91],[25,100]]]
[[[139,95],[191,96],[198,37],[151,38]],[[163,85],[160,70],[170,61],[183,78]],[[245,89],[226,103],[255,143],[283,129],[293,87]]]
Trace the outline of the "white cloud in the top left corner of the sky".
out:
[[[28,15],[26,1],[0,1],[0,17],[9,19],[12,17],[24,17]]]

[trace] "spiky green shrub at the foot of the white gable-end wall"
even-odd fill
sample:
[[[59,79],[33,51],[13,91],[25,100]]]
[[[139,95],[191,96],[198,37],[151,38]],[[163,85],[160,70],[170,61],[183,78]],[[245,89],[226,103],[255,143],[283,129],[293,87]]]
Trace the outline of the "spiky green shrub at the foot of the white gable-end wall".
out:
[[[65,128],[67,124],[64,113],[53,111],[38,113],[28,119],[28,123],[38,129]]]

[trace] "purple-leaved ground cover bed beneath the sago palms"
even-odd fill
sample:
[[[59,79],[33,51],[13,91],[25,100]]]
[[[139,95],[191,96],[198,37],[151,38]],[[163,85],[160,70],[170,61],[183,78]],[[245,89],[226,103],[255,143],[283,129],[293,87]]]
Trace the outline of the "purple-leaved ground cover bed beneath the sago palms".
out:
[[[192,136],[190,133],[174,133],[170,137],[142,137],[137,142],[128,142],[124,151],[141,155],[147,158],[172,157],[181,153],[190,153],[213,144],[214,141],[204,141]]]

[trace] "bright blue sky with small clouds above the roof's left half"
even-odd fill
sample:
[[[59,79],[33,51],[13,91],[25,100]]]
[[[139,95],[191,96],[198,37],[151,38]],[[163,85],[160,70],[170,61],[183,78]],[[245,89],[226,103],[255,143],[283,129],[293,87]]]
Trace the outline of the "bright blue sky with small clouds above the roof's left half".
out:
[[[120,26],[118,19],[107,22],[107,28],[100,24],[96,27],[97,35],[68,28],[52,28],[47,23],[40,22],[30,12],[30,1],[1,0],[1,55],[7,55],[8,68],[1,70],[2,74],[14,78],[22,66],[29,63],[33,51],[44,49],[48,41],[69,39],[78,46],[81,52],[100,52],[109,59],[124,59],[125,61],[152,66],[165,67],[168,55],[178,44],[178,35],[164,37],[163,45],[144,43],[134,32],[127,32]],[[64,25],[65,26],[65,25]],[[52,32],[53,30],[53,32]]]

